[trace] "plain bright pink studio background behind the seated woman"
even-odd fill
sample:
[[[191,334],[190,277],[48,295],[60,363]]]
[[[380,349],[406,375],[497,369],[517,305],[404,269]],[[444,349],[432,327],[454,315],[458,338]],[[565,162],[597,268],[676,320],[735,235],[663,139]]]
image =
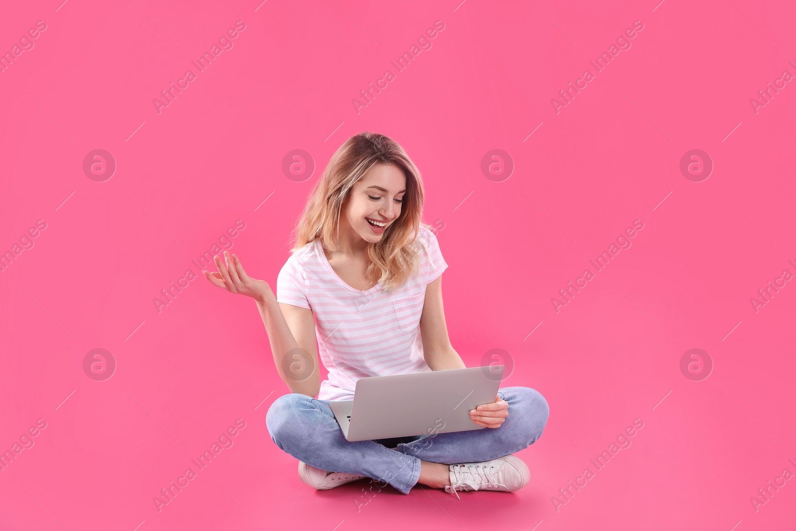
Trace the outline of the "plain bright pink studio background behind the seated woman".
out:
[[[0,449],[46,428],[0,471],[0,529],[792,526],[796,479],[757,510],[750,498],[796,473],[796,287],[756,312],[750,299],[796,273],[796,88],[756,113],[750,99],[796,74],[796,9],[658,1],[4,7],[0,50],[47,29],[0,73],[0,252],[46,228],[0,273]],[[158,114],[152,100],[239,20],[233,48]],[[435,21],[431,49],[396,73]],[[551,99],[634,21],[631,48],[556,114]],[[357,113],[388,68],[396,79]],[[469,366],[505,349],[504,385],[550,404],[516,494],[304,486],[267,433],[288,389],[255,303],[191,261],[243,220],[232,249],[275,286],[311,185],[360,131],[392,137],[423,173],[455,349]],[[96,149],[117,165],[104,182],[83,170]],[[295,149],[314,174],[283,174]],[[481,170],[493,149],[513,160],[502,182]],[[692,149],[715,166],[702,182],[679,169]],[[632,246],[556,312],[634,220]],[[117,364],[105,381],[83,369],[96,348]],[[693,348],[714,365],[701,381],[680,369]],[[234,445],[158,511],[154,496],[236,419]],[[635,419],[632,445],[595,471]],[[586,467],[595,477],[556,510]]]

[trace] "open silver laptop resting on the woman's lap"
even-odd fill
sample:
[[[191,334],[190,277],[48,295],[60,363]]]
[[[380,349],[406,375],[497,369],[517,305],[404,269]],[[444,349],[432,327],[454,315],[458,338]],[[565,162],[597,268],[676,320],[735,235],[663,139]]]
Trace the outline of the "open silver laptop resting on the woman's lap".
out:
[[[495,401],[503,365],[357,380],[353,400],[329,403],[349,441],[484,428],[470,409]]]

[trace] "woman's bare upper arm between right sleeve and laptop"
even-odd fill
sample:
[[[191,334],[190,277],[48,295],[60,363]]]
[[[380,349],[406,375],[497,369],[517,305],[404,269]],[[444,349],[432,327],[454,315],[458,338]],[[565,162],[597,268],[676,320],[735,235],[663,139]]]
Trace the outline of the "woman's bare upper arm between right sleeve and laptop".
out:
[[[443,310],[443,275],[426,286],[426,301],[420,315],[420,335],[423,338],[423,357],[432,371],[466,369],[447,335]]]

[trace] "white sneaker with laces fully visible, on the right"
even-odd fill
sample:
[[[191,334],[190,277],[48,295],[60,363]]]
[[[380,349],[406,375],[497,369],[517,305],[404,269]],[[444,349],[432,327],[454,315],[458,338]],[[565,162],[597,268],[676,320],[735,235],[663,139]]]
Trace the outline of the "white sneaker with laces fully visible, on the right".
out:
[[[450,470],[451,485],[445,487],[445,492],[456,494],[456,498],[459,498],[457,490],[513,492],[528,485],[531,479],[528,465],[515,455],[506,455],[483,463],[450,465]]]

